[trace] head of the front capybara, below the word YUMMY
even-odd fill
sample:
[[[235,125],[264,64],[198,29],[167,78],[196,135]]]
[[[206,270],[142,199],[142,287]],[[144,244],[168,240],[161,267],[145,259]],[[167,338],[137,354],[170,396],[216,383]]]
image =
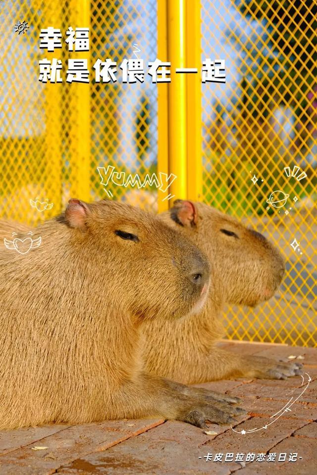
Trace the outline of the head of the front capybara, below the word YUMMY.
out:
[[[157,217],[124,203],[71,199],[59,220],[76,256],[95,263],[102,286],[133,315],[178,318],[203,305],[208,259]]]

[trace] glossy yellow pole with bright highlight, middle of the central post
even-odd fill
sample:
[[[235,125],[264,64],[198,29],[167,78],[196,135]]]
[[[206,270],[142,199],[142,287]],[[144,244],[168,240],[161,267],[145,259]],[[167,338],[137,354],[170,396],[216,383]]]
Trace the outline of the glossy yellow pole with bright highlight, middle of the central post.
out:
[[[175,198],[187,195],[186,75],[175,68],[185,67],[186,0],[167,0],[167,60],[171,62],[168,84],[168,161],[169,173],[177,178],[169,192]]]

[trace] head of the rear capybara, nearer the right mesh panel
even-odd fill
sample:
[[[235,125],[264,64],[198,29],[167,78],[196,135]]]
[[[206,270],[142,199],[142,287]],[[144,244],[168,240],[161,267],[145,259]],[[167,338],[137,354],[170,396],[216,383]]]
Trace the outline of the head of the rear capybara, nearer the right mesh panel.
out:
[[[212,288],[225,302],[255,306],[276,291],[284,260],[262,234],[200,202],[176,200],[160,216],[206,253]]]

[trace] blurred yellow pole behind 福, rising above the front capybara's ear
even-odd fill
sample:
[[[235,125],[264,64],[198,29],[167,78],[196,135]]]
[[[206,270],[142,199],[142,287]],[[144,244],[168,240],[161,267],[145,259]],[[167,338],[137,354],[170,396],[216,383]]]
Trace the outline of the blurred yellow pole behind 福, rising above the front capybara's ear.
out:
[[[90,0],[76,1],[76,22],[74,28],[90,28]],[[90,49],[92,47],[91,31],[89,31]],[[75,57],[75,56],[72,56]],[[80,51],[76,53],[78,59],[86,59],[88,62],[88,70],[90,71],[89,78],[92,81],[92,71],[90,68],[90,52]],[[77,167],[77,183],[78,183],[78,197],[85,201],[90,201],[90,176],[92,173],[90,166],[90,84],[72,84],[75,87],[75,94],[77,95],[77,118],[74,123],[76,127],[76,156],[72,157],[72,162],[76,163]]]

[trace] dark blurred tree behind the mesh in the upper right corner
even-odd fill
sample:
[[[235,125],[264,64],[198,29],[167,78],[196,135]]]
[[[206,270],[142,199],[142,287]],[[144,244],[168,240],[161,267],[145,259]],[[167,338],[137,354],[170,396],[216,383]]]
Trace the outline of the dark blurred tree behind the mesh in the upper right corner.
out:
[[[227,31],[242,56],[240,107],[264,123],[277,106],[292,107],[294,149],[304,154],[316,134],[316,0],[233,1],[246,19],[259,21]]]

